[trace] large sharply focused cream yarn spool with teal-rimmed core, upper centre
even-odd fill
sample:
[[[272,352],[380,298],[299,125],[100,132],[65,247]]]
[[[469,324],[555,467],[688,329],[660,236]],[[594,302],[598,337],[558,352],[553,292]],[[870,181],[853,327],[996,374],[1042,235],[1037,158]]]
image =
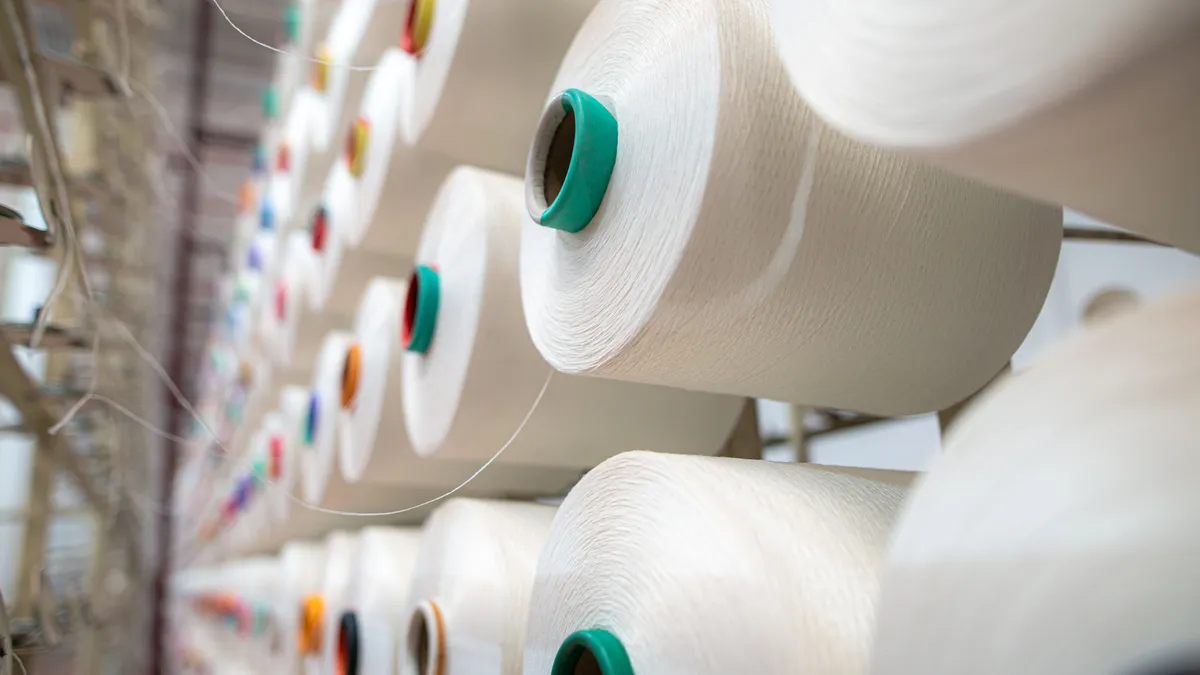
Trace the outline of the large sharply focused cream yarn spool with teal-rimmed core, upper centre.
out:
[[[888,416],[956,402],[1037,317],[1061,214],[823,126],[767,18],[761,0],[596,6],[552,91],[604,107],[565,118],[556,94],[526,175],[533,215],[586,227],[527,219],[534,344],[571,374]],[[587,124],[605,107],[619,142]]]

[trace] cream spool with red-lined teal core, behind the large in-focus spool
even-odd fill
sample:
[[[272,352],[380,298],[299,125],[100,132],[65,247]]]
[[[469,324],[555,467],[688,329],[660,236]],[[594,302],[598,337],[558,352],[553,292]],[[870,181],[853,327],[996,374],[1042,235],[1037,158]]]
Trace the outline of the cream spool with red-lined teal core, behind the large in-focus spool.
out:
[[[404,422],[422,456],[487,459],[550,376],[521,309],[522,210],[518,179],[470,167],[455,169],[434,199],[414,276],[436,270],[434,331],[427,352],[404,354],[402,372]],[[408,294],[414,346],[426,291]],[[638,448],[714,454],[743,407],[736,396],[556,374],[503,458],[590,468]]]

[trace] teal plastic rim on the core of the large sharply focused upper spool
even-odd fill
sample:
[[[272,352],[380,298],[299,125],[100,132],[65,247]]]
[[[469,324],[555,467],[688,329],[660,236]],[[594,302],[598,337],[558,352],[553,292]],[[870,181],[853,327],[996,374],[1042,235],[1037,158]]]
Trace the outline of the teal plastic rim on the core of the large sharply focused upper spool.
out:
[[[578,232],[592,222],[617,163],[617,118],[592,95],[568,89],[559,97],[564,113],[575,115],[575,144],[563,186],[554,199],[535,217],[545,227]],[[542,115],[545,120],[551,113]],[[558,118],[558,113],[553,113]],[[542,131],[539,129],[539,131]],[[554,130],[547,130],[553,133]],[[545,144],[545,151],[550,143]]]

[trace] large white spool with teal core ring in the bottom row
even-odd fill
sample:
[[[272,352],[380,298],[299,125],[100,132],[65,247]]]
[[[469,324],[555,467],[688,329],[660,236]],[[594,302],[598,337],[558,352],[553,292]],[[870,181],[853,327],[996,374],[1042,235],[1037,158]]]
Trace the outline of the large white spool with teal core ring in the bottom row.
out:
[[[863,673],[902,498],[806,465],[618,455],[554,518],[524,673]],[[584,658],[560,650],[598,629],[610,639]]]

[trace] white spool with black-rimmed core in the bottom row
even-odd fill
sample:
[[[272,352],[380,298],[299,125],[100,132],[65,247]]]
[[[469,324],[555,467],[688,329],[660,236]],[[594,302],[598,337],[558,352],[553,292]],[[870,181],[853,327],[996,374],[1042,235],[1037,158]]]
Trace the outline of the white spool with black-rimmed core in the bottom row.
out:
[[[340,673],[394,674],[396,650],[403,644],[408,628],[406,602],[421,531],[415,527],[366,527],[359,538],[358,590],[347,610],[354,616],[355,629],[353,634],[347,629],[348,620],[343,615],[338,635],[338,653],[349,657],[353,650],[355,658]]]

